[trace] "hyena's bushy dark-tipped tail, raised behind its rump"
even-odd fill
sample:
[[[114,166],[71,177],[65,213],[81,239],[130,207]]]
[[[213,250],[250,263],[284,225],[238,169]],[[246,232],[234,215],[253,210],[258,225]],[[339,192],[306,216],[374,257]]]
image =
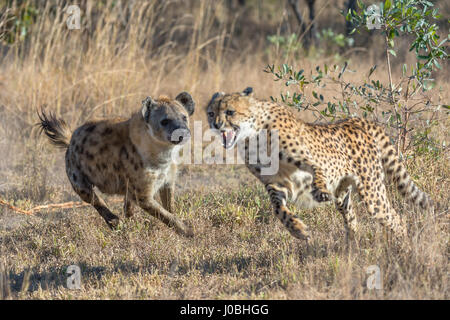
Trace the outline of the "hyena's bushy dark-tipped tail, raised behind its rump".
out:
[[[51,112],[47,115],[44,110],[38,111],[40,122],[37,124],[50,142],[59,148],[67,148],[72,137],[72,131],[66,122],[57,119]]]

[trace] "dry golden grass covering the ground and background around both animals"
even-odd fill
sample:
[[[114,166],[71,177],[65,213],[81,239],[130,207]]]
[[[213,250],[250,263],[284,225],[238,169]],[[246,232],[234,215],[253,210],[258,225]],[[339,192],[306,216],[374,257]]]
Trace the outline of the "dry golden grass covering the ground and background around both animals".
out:
[[[63,8],[46,3],[30,38],[0,50],[0,198],[23,209],[79,201],[63,154],[35,134],[37,107],[47,105],[75,127],[92,117],[128,116],[147,95],[188,90],[197,101],[195,118],[202,120],[217,90],[253,86],[267,98],[282,89],[262,72],[267,63],[283,61],[265,34],[290,28],[278,18],[283,8],[275,2],[251,2],[254,10],[232,18],[216,1],[138,1],[126,14],[117,7],[99,12],[87,2],[82,31],[67,30],[65,15],[53,16]],[[338,12],[330,9],[319,24],[333,16]],[[379,63],[376,76],[387,80],[383,62],[371,52],[350,56],[350,66],[364,73]],[[324,60],[333,62],[291,58],[307,72]],[[433,93],[436,100],[449,100],[445,79]],[[435,137],[449,142],[449,128],[449,120],[442,121]],[[113,232],[92,208],[23,216],[2,207],[0,298],[448,299],[448,154],[416,156],[407,165],[442,209],[433,218],[405,207],[391,192],[410,231],[411,243],[401,247],[386,239],[361,205],[362,227],[351,248],[332,207],[298,211],[313,232],[307,247],[276,221],[263,187],[243,166],[181,168],[176,213],[192,221],[193,239],[143,212]],[[110,204],[121,212],[120,204]],[[81,267],[81,290],[66,288],[72,264]],[[380,267],[383,290],[367,289],[370,265]]]

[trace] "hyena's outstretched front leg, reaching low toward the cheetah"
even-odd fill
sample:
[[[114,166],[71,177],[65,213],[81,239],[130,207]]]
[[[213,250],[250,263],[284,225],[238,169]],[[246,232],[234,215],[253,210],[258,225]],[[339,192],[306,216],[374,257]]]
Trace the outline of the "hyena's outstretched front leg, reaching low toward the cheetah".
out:
[[[192,237],[194,235],[191,226],[185,224],[172,213],[164,209],[164,207],[155,199],[147,196],[140,196],[137,198],[137,202],[143,210],[147,211],[155,218],[158,218],[169,227],[175,228],[176,232],[187,237]]]

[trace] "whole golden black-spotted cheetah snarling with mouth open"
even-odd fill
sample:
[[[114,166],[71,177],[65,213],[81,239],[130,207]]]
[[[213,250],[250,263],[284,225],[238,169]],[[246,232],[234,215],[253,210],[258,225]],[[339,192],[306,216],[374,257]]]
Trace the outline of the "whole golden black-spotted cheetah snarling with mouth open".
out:
[[[353,238],[358,226],[351,193],[356,191],[371,217],[388,227],[395,238],[404,239],[406,227],[389,203],[385,175],[409,202],[422,209],[433,208],[430,197],[419,190],[399,161],[383,128],[374,122],[348,118],[328,124],[305,123],[285,105],[254,98],[250,87],[239,93],[215,93],[206,112],[210,128],[221,134],[225,148],[244,143],[240,154],[246,166],[265,185],[276,217],[296,238],[308,240],[310,232],[288,209],[288,200],[310,208],[334,202],[343,217],[346,238]],[[248,161],[248,140],[262,130],[269,137],[277,132],[279,137],[276,174],[262,174],[260,161]]]

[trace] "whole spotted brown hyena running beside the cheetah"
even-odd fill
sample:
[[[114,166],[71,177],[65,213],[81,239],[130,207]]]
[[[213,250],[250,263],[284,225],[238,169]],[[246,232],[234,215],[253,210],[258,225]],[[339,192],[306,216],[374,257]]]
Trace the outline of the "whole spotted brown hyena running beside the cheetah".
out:
[[[110,228],[117,228],[119,218],[94,186],[105,194],[124,195],[126,217],[133,216],[137,204],[176,232],[192,236],[192,227],[172,214],[177,173],[172,156],[190,138],[194,108],[191,95],[182,92],[175,99],[147,97],[129,119],[90,121],[73,133],[64,120],[43,110],[38,125],[53,145],[66,149],[66,173],[74,191]],[[162,205],[155,200],[158,193]]]

